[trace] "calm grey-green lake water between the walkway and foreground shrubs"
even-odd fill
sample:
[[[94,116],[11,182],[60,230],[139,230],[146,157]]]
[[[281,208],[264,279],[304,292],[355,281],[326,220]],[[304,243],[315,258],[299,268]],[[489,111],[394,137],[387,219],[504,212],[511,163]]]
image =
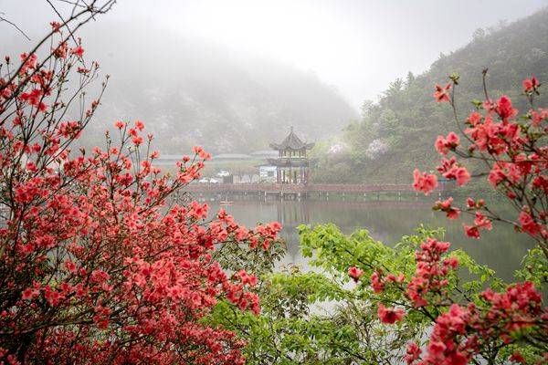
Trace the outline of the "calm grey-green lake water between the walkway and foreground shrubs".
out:
[[[209,203],[214,211],[217,202]],[[495,224],[490,232],[482,232],[480,240],[463,234],[462,219],[450,221],[445,214],[434,212],[431,201],[418,202],[343,202],[343,201],[260,201],[240,200],[227,207],[239,224],[252,226],[258,223],[279,221],[283,225],[281,236],[288,244],[288,254],[283,264],[307,266],[300,255],[297,226],[300,224],[333,223],[343,233],[350,234],[358,228],[387,245],[397,243],[402,235],[413,234],[419,224],[427,227],[445,227],[446,240],[452,248],[464,248],[479,264],[495,269],[498,276],[511,280],[520,266],[523,255],[534,246],[527,235],[515,233],[511,226]],[[470,217],[466,217],[470,220]],[[469,224],[469,222],[467,222]]]

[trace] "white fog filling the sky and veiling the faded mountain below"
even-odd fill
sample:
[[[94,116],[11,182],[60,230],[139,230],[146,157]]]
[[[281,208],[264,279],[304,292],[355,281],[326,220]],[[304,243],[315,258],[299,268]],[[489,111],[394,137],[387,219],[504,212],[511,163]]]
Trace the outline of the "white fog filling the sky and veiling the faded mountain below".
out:
[[[54,2],[63,13],[63,2]],[[91,126],[145,120],[174,153],[268,149],[290,126],[307,140],[340,132],[395,78],[421,73],[479,27],[548,0],[120,0],[82,28],[86,57],[111,84]],[[57,16],[43,0],[3,0],[0,49],[27,50]],[[100,135],[100,133],[96,133]]]

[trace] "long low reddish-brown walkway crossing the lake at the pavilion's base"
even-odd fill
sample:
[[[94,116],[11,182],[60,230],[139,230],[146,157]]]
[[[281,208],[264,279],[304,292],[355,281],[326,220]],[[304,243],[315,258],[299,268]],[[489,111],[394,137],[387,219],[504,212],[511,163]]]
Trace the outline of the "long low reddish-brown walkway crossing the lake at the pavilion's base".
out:
[[[435,193],[446,190],[440,185]],[[308,194],[308,193],[416,193],[411,184],[352,184],[352,183],[191,183],[185,191],[189,193],[259,193],[259,194]]]

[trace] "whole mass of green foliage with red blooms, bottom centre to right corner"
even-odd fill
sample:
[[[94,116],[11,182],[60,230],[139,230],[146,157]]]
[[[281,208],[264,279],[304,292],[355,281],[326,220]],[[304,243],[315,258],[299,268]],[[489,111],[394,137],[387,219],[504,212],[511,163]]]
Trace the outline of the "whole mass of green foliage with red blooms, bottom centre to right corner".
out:
[[[301,226],[300,235],[316,270],[263,272],[258,316],[228,303],[212,315],[248,340],[249,363],[411,364],[421,353],[423,364],[546,360],[539,250],[517,271],[532,281],[507,285],[464,251],[448,253],[439,230],[419,228],[394,247],[332,224]]]

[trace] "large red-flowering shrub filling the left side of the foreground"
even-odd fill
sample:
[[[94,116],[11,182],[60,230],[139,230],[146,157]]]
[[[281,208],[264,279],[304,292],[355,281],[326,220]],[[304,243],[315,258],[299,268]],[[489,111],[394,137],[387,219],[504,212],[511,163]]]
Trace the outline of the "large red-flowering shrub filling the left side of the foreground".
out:
[[[162,174],[140,120],[72,151],[100,105],[82,92],[99,65],[68,45],[66,24],[51,26],[47,57],[0,68],[0,362],[244,362],[244,342],[202,318],[219,300],[257,314],[257,278],[214,255],[268,251],[279,224],[248,230],[223,211],[205,221],[206,204],[176,201],[209,154],[196,147]]]

